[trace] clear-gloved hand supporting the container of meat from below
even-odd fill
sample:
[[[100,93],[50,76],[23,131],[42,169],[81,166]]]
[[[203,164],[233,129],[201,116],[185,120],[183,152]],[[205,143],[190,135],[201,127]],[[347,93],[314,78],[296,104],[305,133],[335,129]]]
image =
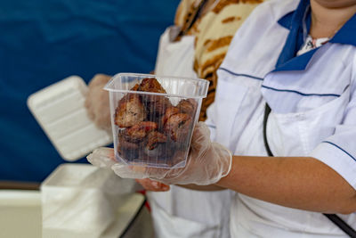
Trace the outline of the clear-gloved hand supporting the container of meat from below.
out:
[[[184,168],[150,168],[126,165],[115,161],[113,151],[102,153],[101,149],[88,155],[96,166],[110,167],[125,178],[151,178],[166,185],[211,185],[227,176],[231,170],[231,152],[221,144],[210,141],[206,124],[198,122],[191,139],[190,152]]]

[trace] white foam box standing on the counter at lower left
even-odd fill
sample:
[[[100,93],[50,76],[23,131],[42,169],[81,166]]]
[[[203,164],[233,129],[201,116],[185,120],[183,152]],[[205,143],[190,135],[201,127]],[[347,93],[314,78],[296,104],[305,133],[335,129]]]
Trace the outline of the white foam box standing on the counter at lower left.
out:
[[[112,170],[62,164],[41,185],[43,237],[101,237],[134,181]]]

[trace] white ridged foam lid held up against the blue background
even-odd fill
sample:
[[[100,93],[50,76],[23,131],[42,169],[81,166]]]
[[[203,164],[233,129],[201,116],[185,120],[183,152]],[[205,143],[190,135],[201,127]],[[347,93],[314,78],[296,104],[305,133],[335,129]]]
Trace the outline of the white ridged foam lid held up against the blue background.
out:
[[[87,90],[82,78],[71,76],[28,97],[29,110],[64,160],[78,160],[112,143],[112,135],[87,115]]]

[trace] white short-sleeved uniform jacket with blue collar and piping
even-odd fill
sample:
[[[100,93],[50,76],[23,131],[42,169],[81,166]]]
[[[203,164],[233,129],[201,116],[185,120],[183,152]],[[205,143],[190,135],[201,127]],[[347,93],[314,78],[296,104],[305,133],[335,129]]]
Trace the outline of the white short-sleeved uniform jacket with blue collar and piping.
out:
[[[218,70],[206,124],[236,155],[310,156],[356,189],[356,15],[327,44],[295,57],[311,23],[309,1],[271,0],[255,9]],[[239,183],[239,181],[237,181]],[[356,214],[340,215],[356,228]],[[233,237],[346,237],[318,212],[237,194]]]

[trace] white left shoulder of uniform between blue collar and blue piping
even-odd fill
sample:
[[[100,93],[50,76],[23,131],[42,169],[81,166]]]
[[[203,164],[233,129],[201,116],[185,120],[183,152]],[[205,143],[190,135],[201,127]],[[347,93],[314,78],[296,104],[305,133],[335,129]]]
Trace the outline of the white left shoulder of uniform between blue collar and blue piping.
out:
[[[220,68],[263,78],[274,67],[289,32],[278,21],[298,4],[296,0],[269,0],[258,5],[236,32]]]

